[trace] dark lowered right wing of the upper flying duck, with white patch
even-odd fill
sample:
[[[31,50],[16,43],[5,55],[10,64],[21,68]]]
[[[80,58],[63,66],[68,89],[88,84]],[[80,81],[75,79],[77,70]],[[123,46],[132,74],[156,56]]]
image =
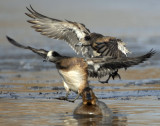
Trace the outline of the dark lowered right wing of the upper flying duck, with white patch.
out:
[[[120,39],[97,33],[91,33],[91,37],[95,40],[92,46],[99,56],[119,58],[126,57],[129,53],[125,43]]]

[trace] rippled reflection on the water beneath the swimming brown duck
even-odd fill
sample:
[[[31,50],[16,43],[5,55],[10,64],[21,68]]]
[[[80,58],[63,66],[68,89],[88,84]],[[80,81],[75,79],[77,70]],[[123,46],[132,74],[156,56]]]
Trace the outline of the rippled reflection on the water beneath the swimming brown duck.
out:
[[[127,117],[126,115],[120,113],[116,108],[114,108],[113,117],[107,116],[80,116],[73,115],[66,117],[64,120],[65,126],[126,126],[127,125]]]

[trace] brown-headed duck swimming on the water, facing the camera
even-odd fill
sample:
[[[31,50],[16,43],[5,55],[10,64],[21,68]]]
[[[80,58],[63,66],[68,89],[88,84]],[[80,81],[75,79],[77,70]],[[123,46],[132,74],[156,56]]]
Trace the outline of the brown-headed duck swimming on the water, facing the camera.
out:
[[[73,114],[78,116],[113,116],[111,109],[104,102],[98,100],[90,87],[83,90],[82,102],[74,109]]]

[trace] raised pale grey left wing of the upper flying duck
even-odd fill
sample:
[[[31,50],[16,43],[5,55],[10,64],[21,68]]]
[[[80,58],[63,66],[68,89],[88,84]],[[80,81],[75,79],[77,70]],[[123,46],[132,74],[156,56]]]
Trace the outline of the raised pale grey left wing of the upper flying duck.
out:
[[[77,54],[89,55],[87,52],[89,47],[76,46],[79,42],[86,41],[90,34],[84,24],[44,16],[35,11],[32,6],[27,9],[30,13],[26,13],[26,15],[32,18],[28,22],[33,24],[32,27],[37,32],[50,38],[65,40]]]

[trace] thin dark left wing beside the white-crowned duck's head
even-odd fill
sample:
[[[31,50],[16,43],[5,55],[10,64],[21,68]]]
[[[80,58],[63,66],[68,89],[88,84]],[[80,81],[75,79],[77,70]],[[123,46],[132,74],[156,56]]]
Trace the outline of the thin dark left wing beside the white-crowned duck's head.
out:
[[[30,46],[24,46],[24,45],[21,45],[20,43],[16,42],[14,39],[6,36],[6,38],[8,39],[8,41],[13,44],[14,46],[17,46],[19,48],[23,48],[23,49],[29,49],[31,50],[32,52],[40,55],[41,57],[43,57],[44,59],[47,57],[47,53],[48,51],[44,50],[44,49],[35,49],[33,47],[30,47]]]

